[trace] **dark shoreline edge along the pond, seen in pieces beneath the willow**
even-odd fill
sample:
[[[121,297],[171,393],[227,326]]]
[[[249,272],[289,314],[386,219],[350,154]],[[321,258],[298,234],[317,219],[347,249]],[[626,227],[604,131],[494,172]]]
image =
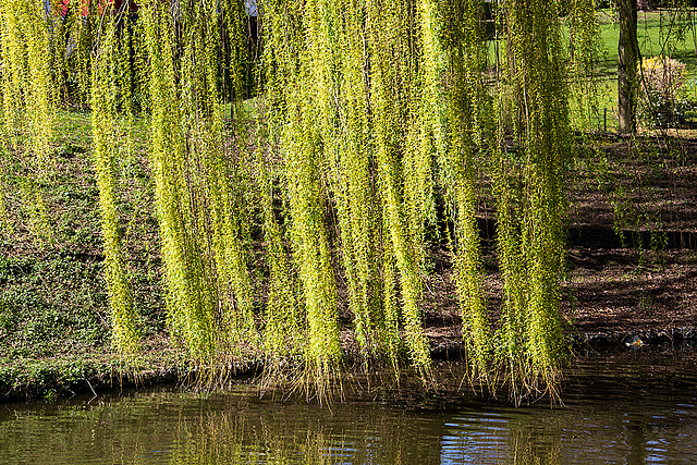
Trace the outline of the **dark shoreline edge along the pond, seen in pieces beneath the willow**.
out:
[[[566,334],[566,340],[572,357],[582,359],[622,354],[689,353],[697,351],[697,328],[574,332]],[[464,344],[453,340],[432,343],[430,354],[435,362],[461,362]],[[98,396],[103,392],[159,384],[193,386],[191,378],[195,376],[195,370],[175,362],[135,372],[119,369],[115,358],[102,362],[60,358],[32,362],[35,365],[27,360],[24,367],[20,365],[13,367],[14,370],[0,370],[0,404],[41,399],[52,402],[90,392]],[[236,370],[231,379],[255,377],[262,370],[262,362],[250,362]]]

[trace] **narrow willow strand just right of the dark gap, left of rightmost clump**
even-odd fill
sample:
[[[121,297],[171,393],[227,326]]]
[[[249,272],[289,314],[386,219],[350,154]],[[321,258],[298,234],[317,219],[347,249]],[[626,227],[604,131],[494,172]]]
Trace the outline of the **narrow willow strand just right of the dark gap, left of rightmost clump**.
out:
[[[474,372],[486,378],[491,366],[491,335],[484,297],[481,252],[477,227],[477,174],[486,149],[484,138],[492,130],[493,108],[482,82],[485,69],[482,5],[477,1],[451,2],[443,8],[448,50],[449,87],[445,93],[448,146],[441,164],[455,219],[455,284],[463,333]]]

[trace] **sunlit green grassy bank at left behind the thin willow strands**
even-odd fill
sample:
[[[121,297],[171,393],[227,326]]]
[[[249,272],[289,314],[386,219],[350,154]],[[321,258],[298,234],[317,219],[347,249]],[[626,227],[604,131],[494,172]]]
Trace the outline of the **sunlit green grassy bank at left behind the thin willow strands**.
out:
[[[0,399],[28,384],[68,382],[78,363],[119,364],[110,346],[90,114],[61,110],[54,131],[52,166],[39,184],[48,238],[32,230],[22,195],[33,160],[22,149],[0,152]],[[117,160],[118,204],[140,327],[151,338],[166,326],[161,265],[144,121],[134,133],[138,143]]]

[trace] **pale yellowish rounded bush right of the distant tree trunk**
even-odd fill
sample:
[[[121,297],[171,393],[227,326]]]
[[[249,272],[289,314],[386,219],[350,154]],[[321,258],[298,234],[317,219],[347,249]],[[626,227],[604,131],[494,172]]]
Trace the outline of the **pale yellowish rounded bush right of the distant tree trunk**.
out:
[[[678,123],[685,103],[685,63],[670,57],[645,58],[638,73],[639,121],[653,127]]]

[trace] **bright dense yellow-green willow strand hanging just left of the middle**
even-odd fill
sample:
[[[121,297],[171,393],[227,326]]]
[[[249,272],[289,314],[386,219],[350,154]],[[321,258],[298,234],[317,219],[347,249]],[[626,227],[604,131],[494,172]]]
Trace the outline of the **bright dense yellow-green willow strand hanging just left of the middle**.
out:
[[[304,309],[299,321],[306,338],[302,347],[304,372],[316,382],[319,392],[325,392],[340,363],[341,351],[338,295],[323,208],[328,185],[323,175],[326,159],[321,130],[318,130],[322,114],[316,111],[314,89],[307,85],[313,72],[309,66],[311,56],[319,52],[306,47],[305,34],[313,20],[320,20],[313,19],[311,13],[304,16],[301,2],[269,2],[265,8],[277,13],[276,21],[272,20],[269,26],[276,26],[270,41],[276,41],[279,47],[269,50],[273,52],[273,64],[279,75],[271,75],[270,88],[278,93],[271,98],[284,110],[277,120],[276,137],[284,166],[283,183],[291,217],[294,268],[302,287],[298,305]],[[313,3],[309,3],[307,9],[311,8]],[[322,63],[317,64],[320,66],[317,73],[327,71]],[[330,86],[331,83],[320,85]],[[329,91],[320,87],[318,94],[325,96]],[[327,121],[323,123],[328,124]]]

